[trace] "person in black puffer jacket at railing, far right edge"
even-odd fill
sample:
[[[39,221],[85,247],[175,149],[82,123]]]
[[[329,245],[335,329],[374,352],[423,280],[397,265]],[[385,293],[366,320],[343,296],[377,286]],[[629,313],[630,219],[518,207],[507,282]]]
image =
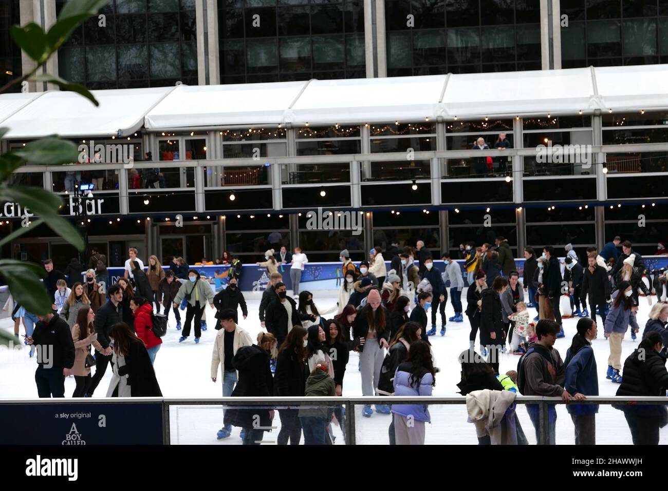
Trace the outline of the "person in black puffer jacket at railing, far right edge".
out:
[[[649,332],[638,349],[624,362],[624,380],[617,396],[665,396],[668,388],[666,359],[661,355],[663,339],[658,332]],[[665,405],[620,404],[631,430],[634,445],[659,444],[659,428],[668,420]]]

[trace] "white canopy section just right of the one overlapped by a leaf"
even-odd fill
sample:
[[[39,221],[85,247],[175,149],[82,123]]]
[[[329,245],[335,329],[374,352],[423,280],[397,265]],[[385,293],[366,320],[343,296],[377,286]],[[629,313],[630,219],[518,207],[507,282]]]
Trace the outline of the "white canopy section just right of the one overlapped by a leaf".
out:
[[[180,85],[146,115],[146,129],[283,123],[308,81]]]

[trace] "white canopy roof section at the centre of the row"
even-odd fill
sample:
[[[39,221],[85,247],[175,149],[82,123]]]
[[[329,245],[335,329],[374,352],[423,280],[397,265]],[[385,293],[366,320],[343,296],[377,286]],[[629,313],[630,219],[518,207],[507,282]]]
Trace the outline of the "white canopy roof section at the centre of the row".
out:
[[[296,125],[422,121],[437,115],[447,77],[313,80],[285,120]]]

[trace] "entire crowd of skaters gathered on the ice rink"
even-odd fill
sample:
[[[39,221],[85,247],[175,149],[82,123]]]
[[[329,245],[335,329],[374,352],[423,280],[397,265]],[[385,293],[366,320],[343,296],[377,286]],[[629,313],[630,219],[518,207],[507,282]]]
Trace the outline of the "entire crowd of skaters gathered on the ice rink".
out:
[[[374,248],[369,260],[359,264],[343,250],[339,260],[344,281],[337,305],[329,310],[319,310],[311,292],[299,291],[301,272],[308,262],[299,247],[293,254],[285,248],[268,250],[265,261],[257,263],[267,268],[271,281],[259,307],[263,331],[255,340],[238,325],[239,308],[244,319],[248,315],[244,296],[237,288],[242,268],[240,260],[227,252],[216,260],[216,264],[230,268],[220,275],[226,288],[215,296],[182,258],[172,258],[169,268],[163,268],[156,256],[150,256],[144,271],[134,248],[129,250],[124,278],[104,294],[98,282],[107,282],[106,258],[94,250],[85,282],[76,281],[83,270],[80,264],[69,265],[72,270],[65,278],[53,270],[51,260],[45,261],[44,284],[54,299],[51,313],[34,316],[11,298],[4,310],[12,309],[17,338],[20,324],[25,326],[30,356],[37,348],[39,397],[64,397],[64,379],[70,375],[76,380],[72,396],[91,397],[109,364],[113,376],[107,396],[161,396],[152,368],[162,344],[157,328],[160,310],[163,308],[167,316],[170,310],[174,312],[176,329],[182,328],[179,342],[188,340],[192,327],[198,343],[201,331],[207,328],[207,304],[216,310],[218,321],[210,377],[214,382],[220,379],[223,396],[260,400],[271,396],[341,396],[351,351],[359,353],[363,396],[430,396],[438,368],[429,338],[446,334],[449,297],[455,315],[448,321],[463,322],[466,314],[470,322],[470,347],[459,357],[462,379],[458,387],[467,397],[469,420],[475,423],[479,443],[526,444],[515,414],[515,394],[560,396],[564,402],[597,396],[591,340],[600,328],[609,340],[607,378],[620,384],[617,395],[666,395],[668,304],[661,302],[665,274],[652,272],[653,281],[645,283],[643,259],[633,252],[629,241],[621,243],[619,254],[620,243],[615,237],[601,251],[590,248],[587,264],[578,262],[568,244],[563,275],[554,248],[545,247],[538,256],[527,247],[523,284],[504,237],[498,237],[494,246],[462,244],[459,258],[442,254],[443,273],[434,268],[434,258],[423,241],[415,248],[400,250],[397,244],[385,252]],[[390,261],[389,270],[383,253]],[[464,260],[463,266],[454,259]],[[212,262],[202,259],[198,264]],[[281,265],[290,268],[294,298],[282,282]],[[460,300],[464,276],[470,285],[465,312]],[[629,327],[633,338],[640,330],[635,318],[639,290],[651,305],[653,289],[659,302],[651,308],[638,349],[622,366],[621,342]],[[562,299],[566,299],[565,305]],[[530,318],[528,307],[538,310],[536,318]],[[574,308],[572,314],[580,317],[565,360],[553,348],[556,338],[564,336],[562,308]],[[183,327],[181,310],[186,311]],[[601,324],[597,324],[597,315]],[[518,370],[500,374],[499,352],[506,350],[522,356]],[[40,352],[49,356],[39,356]],[[668,424],[665,405],[618,407],[624,411],[634,444],[659,442],[659,428]],[[538,440],[538,406],[528,404],[526,408]],[[377,404],[375,410],[392,415],[390,444],[424,444],[425,423],[430,422],[428,405]],[[576,444],[594,444],[598,406],[568,404],[567,410],[574,423]],[[299,444],[302,433],[305,444],[331,444],[333,419],[339,424],[345,421],[341,406],[304,406],[278,412],[279,444]],[[363,407],[363,416],[372,414],[371,406]],[[554,405],[549,406],[548,415],[549,440],[554,444]],[[271,426],[274,417],[273,410],[228,409],[216,437],[229,438],[232,426],[237,426],[242,428],[244,444],[256,444],[265,431],[259,428]]]

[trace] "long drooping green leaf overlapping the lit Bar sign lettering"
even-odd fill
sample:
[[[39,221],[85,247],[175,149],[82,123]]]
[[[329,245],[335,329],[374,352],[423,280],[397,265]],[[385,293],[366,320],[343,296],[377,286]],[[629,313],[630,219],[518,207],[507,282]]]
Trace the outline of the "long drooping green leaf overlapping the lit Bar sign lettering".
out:
[[[79,251],[86,247],[77,229],[58,214],[58,209],[63,203],[61,198],[51,191],[39,187],[0,187],[0,201],[15,201],[27,206],[30,211],[43,219],[49,228]]]

